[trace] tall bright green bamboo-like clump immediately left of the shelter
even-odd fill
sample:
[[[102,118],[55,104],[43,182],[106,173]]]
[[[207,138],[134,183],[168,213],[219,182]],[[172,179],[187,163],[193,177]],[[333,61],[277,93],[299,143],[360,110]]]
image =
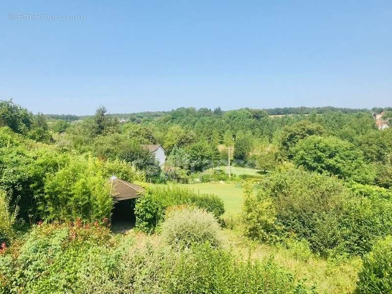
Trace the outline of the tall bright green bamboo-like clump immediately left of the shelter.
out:
[[[41,210],[47,220],[97,221],[108,218],[112,197],[97,158],[75,156],[45,183],[45,202]]]

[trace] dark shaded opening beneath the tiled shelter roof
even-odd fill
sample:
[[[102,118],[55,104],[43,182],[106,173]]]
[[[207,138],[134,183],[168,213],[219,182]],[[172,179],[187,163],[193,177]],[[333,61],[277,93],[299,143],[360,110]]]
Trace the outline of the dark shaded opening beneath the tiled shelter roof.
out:
[[[126,233],[135,226],[135,200],[125,199],[114,203],[112,210],[112,231]]]

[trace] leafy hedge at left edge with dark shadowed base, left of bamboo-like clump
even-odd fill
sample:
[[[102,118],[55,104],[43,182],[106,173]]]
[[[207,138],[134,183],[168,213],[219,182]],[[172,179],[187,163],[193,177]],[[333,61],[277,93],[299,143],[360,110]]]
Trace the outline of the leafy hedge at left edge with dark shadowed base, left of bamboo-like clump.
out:
[[[0,133],[0,142],[4,142],[0,147],[0,188],[7,192],[12,207],[20,207],[20,217],[37,220],[46,174],[56,172],[64,156],[53,147],[24,140],[8,130]]]

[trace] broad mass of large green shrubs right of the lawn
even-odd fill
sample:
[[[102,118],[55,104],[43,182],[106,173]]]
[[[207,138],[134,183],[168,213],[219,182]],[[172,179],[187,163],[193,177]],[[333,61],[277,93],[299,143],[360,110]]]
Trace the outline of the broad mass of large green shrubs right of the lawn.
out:
[[[255,196],[245,196],[244,234],[276,242],[294,233],[323,256],[363,255],[392,231],[392,202],[383,188],[350,187],[318,173],[273,172]]]

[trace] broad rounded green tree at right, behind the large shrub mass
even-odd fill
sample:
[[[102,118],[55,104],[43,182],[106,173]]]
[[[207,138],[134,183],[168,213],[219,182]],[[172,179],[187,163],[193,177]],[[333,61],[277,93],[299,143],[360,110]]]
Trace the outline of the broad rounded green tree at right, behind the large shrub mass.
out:
[[[295,146],[294,154],[294,163],[311,172],[328,172],[365,184],[372,183],[375,177],[362,153],[336,137],[307,137]]]

